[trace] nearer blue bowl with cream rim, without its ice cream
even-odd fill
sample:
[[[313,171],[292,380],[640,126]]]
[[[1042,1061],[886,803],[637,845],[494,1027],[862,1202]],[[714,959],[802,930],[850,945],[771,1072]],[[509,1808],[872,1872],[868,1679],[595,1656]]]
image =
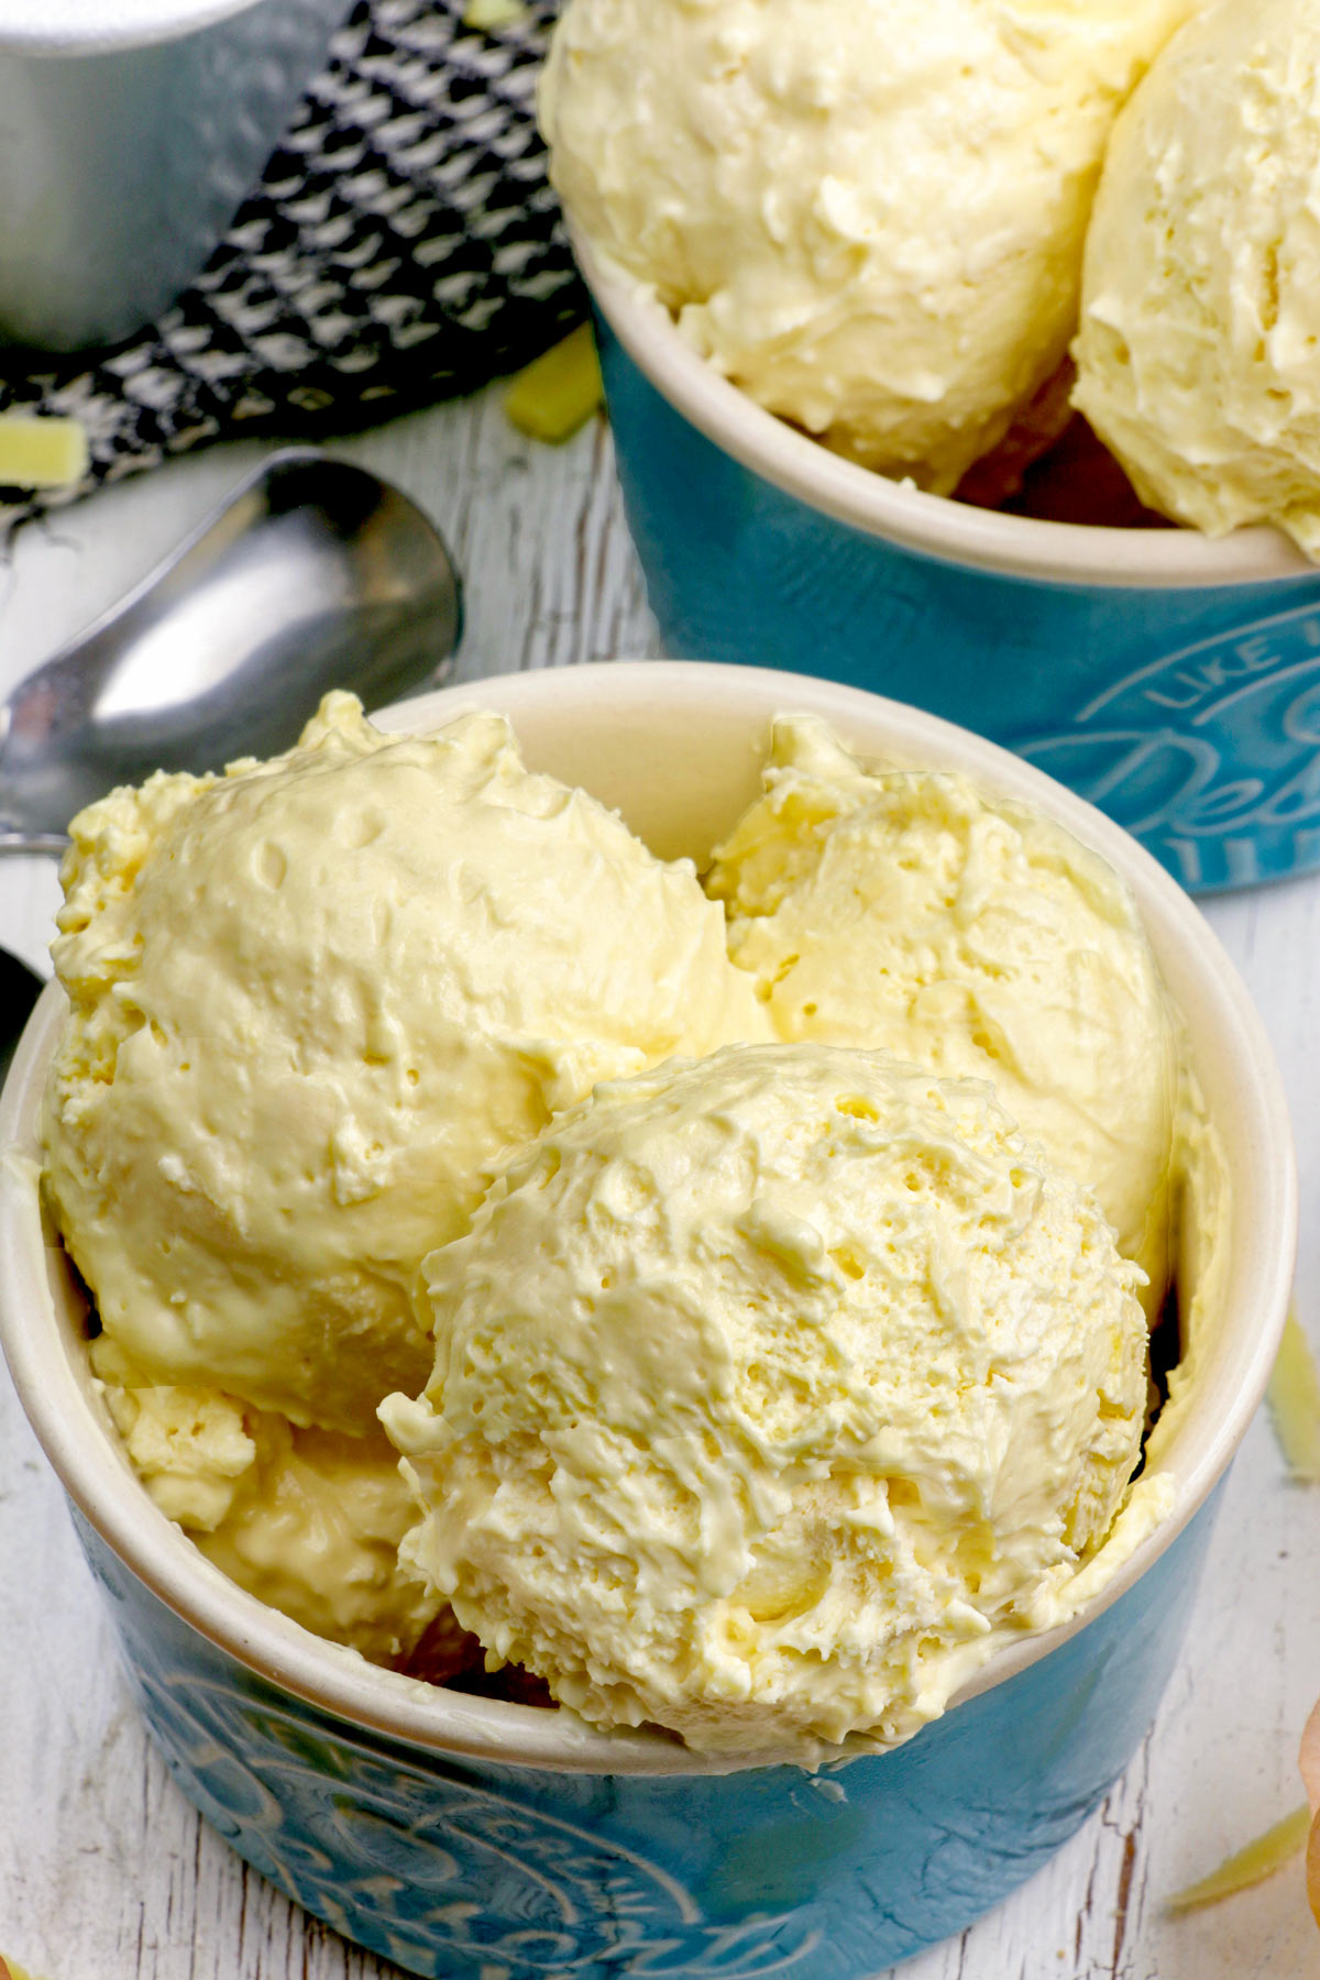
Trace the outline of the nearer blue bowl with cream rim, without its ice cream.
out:
[[[89,1378],[32,1168],[0,1162],[0,1340],[75,1505],[146,1723],[234,1847],[346,1936],[443,1980],[863,1980],[1029,1877],[1122,1770],[1174,1669],[1213,1499],[1286,1309],[1296,1200],[1269,1043],[1205,921],[1112,824],[932,717],[823,681],[679,663],[451,689],[511,713],[528,762],[584,780],[665,853],[703,853],[756,788],[770,715],[821,713],[853,746],[970,770],[1039,804],[1128,877],[1185,1014],[1231,1198],[1181,1424],[1148,1461],[1170,1511],[1075,1624],[1023,1637],[906,1746],[807,1774],[722,1770],[653,1732],[459,1697],[378,1671],[234,1588],[133,1477]],[[38,1152],[63,1018],[46,992],[0,1099]]]

